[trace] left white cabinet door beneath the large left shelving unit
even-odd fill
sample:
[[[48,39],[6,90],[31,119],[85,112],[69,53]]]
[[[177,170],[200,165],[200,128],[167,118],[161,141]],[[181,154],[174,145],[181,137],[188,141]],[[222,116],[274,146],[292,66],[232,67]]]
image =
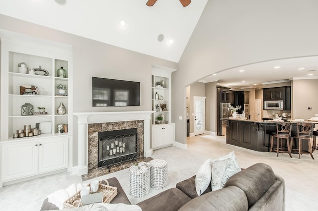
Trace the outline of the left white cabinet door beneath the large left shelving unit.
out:
[[[1,180],[9,181],[34,175],[38,172],[38,149],[36,142],[2,145]]]

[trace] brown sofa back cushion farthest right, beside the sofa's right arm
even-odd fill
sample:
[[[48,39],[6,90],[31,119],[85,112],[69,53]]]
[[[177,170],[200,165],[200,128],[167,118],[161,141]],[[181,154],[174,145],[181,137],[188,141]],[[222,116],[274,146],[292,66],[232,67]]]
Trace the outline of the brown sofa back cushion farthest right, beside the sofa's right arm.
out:
[[[248,207],[251,207],[275,181],[275,174],[269,165],[256,163],[233,175],[224,187],[239,187],[247,197]]]

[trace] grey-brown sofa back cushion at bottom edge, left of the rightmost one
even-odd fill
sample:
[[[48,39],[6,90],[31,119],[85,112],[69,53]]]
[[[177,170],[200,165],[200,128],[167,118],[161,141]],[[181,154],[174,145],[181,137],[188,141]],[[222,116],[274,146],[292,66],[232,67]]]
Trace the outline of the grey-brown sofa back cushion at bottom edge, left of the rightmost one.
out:
[[[213,191],[182,206],[179,211],[247,211],[248,203],[244,192],[235,186]]]

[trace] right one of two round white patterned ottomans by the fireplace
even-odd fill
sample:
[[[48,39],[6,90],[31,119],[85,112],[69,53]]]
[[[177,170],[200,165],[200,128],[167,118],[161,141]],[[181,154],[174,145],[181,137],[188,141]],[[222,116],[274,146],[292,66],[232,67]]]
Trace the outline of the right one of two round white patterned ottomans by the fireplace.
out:
[[[150,161],[150,187],[162,189],[168,184],[168,164],[164,159],[153,159]]]

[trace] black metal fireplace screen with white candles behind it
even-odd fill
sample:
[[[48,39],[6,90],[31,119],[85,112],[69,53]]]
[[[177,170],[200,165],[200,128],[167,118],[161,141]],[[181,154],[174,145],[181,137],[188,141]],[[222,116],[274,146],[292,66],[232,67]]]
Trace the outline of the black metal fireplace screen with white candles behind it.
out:
[[[98,132],[98,167],[138,158],[137,128]]]

